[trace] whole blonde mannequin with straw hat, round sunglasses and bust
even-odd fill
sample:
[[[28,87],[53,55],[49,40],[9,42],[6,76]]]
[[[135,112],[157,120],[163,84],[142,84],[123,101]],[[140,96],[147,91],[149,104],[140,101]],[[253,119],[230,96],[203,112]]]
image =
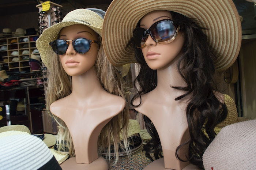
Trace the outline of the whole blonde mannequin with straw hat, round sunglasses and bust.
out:
[[[57,147],[70,156],[60,165],[63,170],[108,170],[98,153],[108,155],[113,145],[117,162],[119,147],[128,148],[123,83],[103,50],[104,15],[94,11],[69,12],[36,42],[50,72],[46,109],[59,124]],[[121,146],[120,133],[124,136]]]

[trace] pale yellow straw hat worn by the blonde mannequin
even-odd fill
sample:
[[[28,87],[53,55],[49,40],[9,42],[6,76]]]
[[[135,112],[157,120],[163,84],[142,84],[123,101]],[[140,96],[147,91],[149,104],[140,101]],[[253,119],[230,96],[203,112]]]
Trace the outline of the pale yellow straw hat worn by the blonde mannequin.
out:
[[[41,60],[46,67],[50,67],[50,56],[53,52],[50,42],[59,37],[59,32],[63,27],[74,24],[83,24],[93,29],[101,36],[103,18],[97,13],[87,9],[77,9],[69,12],[61,22],[45,29],[36,41],[37,49],[39,50]]]

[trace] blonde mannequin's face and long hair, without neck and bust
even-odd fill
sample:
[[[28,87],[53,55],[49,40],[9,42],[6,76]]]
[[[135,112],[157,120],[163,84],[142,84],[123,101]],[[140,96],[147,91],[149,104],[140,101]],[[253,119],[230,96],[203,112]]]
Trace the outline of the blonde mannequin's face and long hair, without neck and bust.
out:
[[[84,32],[86,31],[86,32]],[[80,33],[79,33],[80,32]],[[89,33],[88,33],[89,32]],[[77,34],[79,33],[79,34]],[[88,38],[98,41],[98,44],[91,44],[90,50],[85,54],[77,53],[72,42],[69,41],[67,52],[63,55],[57,55],[52,51],[49,54],[50,64],[48,87],[46,90],[46,109],[49,110],[50,105],[61,98],[64,98],[72,92],[72,76],[82,75],[90,69],[95,69],[97,77],[102,84],[102,87],[112,93],[125,98],[123,83],[117,69],[114,68],[107,60],[102,47],[101,37],[92,29],[82,24],[75,24],[64,27],[59,34],[60,39],[76,39]],[[74,60],[72,64],[67,64],[67,61]],[[86,88],[86,85],[84,86]],[[49,113],[51,114],[51,113]],[[51,114],[52,115],[52,114]],[[59,124],[58,139],[59,150],[69,148],[69,155],[75,156],[74,146],[71,135],[65,123],[58,117],[52,115]],[[120,146],[119,133],[123,132],[124,139],[127,139],[127,126],[129,116],[125,108],[121,113],[112,118],[108,124],[102,129],[98,139],[99,152],[108,152],[110,155],[111,144],[114,144],[116,162],[118,160],[118,147]],[[66,140],[64,144],[63,140]],[[127,140],[124,140],[124,148],[127,148]],[[107,151],[106,151],[107,148]],[[115,162],[115,163],[116,163]]]

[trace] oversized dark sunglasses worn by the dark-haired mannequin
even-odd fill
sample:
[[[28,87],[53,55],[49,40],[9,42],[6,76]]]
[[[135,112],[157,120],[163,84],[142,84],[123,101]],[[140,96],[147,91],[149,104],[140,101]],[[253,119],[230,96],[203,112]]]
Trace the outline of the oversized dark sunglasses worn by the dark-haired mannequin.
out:
[[[176,38],[179,29],[180,26],[176,29],[173,20],[159,20],[147,30],[141,27],[136,28],[133,31],[134,43],[138,49],[141,49],[146,46],[145,42],[147,41],[148,35],[150,35],[155,42],[168,44]]]

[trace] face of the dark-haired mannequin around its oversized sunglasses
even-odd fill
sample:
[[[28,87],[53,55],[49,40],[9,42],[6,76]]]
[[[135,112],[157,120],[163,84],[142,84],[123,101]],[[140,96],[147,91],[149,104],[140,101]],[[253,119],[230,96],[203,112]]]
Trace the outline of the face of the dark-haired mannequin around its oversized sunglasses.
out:
[[[172,19],[169,11],[152,11],[145,16],[140,21],[140,27],[144,29],[149,29],[152,24],[159,20]],[[177,37],[174,41],[168,44],[159,44],[155,42],[149,35],[147,41],[145,42],[145,47],[142,48],[142,53],[144,59],[151,69],[162,69],[168,67],[172,64],[172,61],[181,53],[182,46],[184,44],[184,37],[182,32],[179,31]],[[150,53],[155,53],[154,55]]]

